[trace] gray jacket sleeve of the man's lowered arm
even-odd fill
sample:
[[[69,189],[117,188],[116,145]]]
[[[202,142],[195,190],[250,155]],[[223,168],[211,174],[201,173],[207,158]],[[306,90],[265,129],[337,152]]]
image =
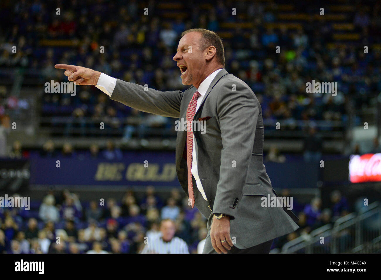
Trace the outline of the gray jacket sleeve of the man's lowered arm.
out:
[[[233,83],[236,91],[232,91]],[[217,114],[223,148],[213,213],[234,219],[246,183],[259,106],[254,93],[243,83],[225,83],[219,93]]]

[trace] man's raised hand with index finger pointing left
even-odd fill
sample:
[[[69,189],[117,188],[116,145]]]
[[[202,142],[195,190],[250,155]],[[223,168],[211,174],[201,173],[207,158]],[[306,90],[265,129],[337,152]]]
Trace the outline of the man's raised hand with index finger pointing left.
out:
[[[101,72],[76,65],[56,64],[54,65],[54,68],[66,69],[64,74],[69,77],[68,80],[81,86],[95,86],[98,83],[99,76],[101,75]]]

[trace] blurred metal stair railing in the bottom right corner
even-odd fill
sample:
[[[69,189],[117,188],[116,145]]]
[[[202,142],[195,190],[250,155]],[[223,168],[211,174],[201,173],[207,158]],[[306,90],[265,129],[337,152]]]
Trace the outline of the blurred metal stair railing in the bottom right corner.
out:
[[[374,202],[283,245],[281,253],[375,253],[381,251],[381,206]]]

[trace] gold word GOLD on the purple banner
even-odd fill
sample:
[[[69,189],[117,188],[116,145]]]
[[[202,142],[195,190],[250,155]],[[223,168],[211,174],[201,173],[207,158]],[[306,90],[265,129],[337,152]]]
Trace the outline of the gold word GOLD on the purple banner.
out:
[[[176,165],[166,163],[160,173],[160,165],[150,163],[149,168],[144,168],[142,163],[131,163],[126,170],[126,179],[128,181],[159,181],[170,182],[176,179]]]

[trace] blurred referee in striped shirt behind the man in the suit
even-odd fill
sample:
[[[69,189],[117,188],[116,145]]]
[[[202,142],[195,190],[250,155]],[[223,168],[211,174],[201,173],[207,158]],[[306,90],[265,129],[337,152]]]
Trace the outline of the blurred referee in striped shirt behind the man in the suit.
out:
[[[163,219],[160,222],[160,232],[160,236],[152,240],[148,238],[141,254],[189,254],[187,243],[179,237],[174,237],[174,221]]]

